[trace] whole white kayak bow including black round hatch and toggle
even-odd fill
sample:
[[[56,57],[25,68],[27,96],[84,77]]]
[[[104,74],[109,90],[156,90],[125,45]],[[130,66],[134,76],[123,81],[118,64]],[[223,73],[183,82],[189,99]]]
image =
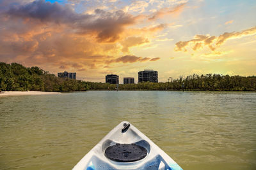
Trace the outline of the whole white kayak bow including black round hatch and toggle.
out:
[[[121,122],[73,168],[182,169],[171,157],[128,122]]]

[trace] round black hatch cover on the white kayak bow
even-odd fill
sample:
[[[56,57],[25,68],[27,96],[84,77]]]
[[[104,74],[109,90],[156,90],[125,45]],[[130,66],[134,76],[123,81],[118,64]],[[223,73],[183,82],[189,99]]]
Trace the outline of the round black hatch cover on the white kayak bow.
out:
[[[116,162],[133,162],[147,156],[147,150],[142,146],[132,144],[119,144],[109,146],[105,150],[105,156]]]

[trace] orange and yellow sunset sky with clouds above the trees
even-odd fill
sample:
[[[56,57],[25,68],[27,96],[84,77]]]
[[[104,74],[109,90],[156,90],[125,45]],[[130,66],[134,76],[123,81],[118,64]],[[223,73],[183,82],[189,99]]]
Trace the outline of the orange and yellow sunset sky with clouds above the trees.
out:
[[[0,62],[120,83],[256,75],[255,0],[0,0]]]

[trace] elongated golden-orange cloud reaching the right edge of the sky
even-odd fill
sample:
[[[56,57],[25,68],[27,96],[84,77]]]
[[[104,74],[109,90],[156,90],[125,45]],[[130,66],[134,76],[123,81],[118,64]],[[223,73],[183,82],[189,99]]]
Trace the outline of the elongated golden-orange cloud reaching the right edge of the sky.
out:
[[[256,34],[256,27],[243,30],[241,32],[225,32],[220,36],[205,36],[205,35],[195,35],[195,37],[189,41],[179,41],[175,44],[175,51],[187,51],[188,46],[190,46],[194,51],[204,46],[208,46],[212,51],[214,51],[218,46],[222,45],[228,39],[243,38],[244,36],[252,36]]]

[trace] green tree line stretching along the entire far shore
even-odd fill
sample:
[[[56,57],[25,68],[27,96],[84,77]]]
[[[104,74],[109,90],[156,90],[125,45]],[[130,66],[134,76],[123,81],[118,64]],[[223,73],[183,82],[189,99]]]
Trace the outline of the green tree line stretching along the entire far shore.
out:
[[[0,62],[1,91],[74,92],[116,90],[116,85],[58,78],[40,67]],[[170,82],[120,84],[118,90],[256,91],[256,76],[193,74]],[[2,92],[3,93],[3,92]]]

